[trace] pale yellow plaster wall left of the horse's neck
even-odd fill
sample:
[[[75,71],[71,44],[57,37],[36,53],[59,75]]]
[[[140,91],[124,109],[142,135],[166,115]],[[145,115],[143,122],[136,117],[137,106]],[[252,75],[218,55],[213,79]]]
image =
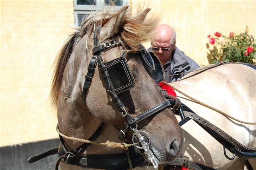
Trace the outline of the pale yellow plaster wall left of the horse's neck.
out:
[[[0,4],[0,146],[57,138],[51,65],[72,32],[73,1]]]

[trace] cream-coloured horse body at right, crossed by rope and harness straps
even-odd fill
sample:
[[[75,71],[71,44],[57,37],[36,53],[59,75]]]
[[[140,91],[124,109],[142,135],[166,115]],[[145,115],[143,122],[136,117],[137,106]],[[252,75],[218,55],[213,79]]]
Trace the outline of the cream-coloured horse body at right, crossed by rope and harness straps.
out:
[[[201,72],[201,68],[197,72]],[[171,83],[172,86],[189,96],[245,122],[256,122],[255,84],[256,71],[241,64],[224,64],[201,73],[192,72],[183,79]],[[255,125],[236,122],[207,107],[187,100],[187,97],[178,92],[177,95],[181,102],[199,116],[224,130],[241,144],[248,148],[256,147]],[[189,155],[195,162],[215,168],[224,168],[220,165],[225,161],[225,168],[230,166],[229,160],[222,153],[223,146],[199,125],[190,120],[182,127],[186,140],[183,152],[186,156]],[[222,160],[219,161],[219,166],[218,160]]]

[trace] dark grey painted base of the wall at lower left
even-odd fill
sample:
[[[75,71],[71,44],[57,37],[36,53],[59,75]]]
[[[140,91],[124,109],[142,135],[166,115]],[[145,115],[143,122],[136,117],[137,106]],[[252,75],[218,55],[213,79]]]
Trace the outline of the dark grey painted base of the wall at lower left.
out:
[[[0,170],[42,170],[55,169],[57,155],[51,155],[34,163],[27,159],[47,150],[58,148],[59,139],[43,140],[25,144],[0,147]]]

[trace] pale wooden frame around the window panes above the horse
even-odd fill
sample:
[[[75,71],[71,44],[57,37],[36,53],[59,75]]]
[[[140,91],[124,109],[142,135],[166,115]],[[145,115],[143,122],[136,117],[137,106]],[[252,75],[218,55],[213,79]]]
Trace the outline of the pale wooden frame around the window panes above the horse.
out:
[[[78,27],[78,14],[91,14],[93,11],[103,9],[104,0],[94,0],[96,5],[77,5],[77,0],[74,2],[74,17],[75,17],[75,26]],[[123,0],[123,6],[128,5],[129,0]],[[111,8],[115,11],[120,10],[123,6],[112,6]]]

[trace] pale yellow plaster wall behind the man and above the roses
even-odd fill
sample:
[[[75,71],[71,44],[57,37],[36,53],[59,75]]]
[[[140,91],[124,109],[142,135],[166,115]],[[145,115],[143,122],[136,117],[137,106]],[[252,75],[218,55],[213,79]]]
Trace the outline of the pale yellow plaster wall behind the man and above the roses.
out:
[[[142,1],[132,0],[133,7]],[[151,12],[161,14],[160,24],[173,26],[176,46],[199,65],[208,65],[207,35],[231,31],[241,33],[248,25],[249,33],[256,36],[255,0],[147,0]],[[150,43],[145,44],[150,47]]]

